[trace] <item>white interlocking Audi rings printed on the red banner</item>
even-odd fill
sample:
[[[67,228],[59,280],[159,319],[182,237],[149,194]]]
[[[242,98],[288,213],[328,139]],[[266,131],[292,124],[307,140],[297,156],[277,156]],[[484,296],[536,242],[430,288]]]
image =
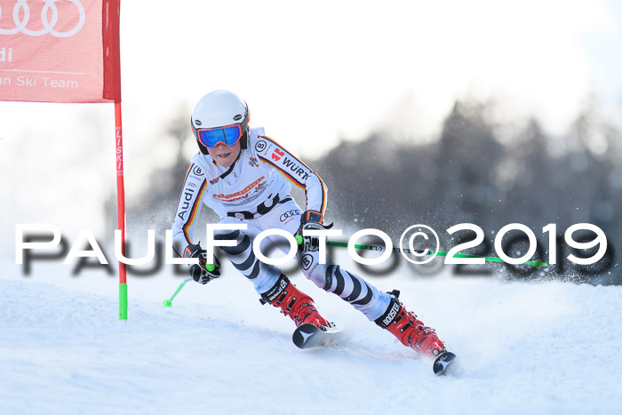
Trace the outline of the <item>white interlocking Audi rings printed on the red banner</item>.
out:
[[[33,3],[42,3],[40,2],[30,2]],[[2,15],[4,12],[5,16],[11,16],[14,28],[3,28],[0,26],[0,35],[15,35],[16,33],[23,33],[26,36],[44,36],[44,35],[52,35],[54,37],[69,37],[76,35],[77,32],[84,26],[84,20],[86,20],[86,12],[84,12],[84,6],[80,3],[79,0],[43,0],[43,8],[41,12],[39,12],[38,7],[33,11],[32,17],[38,17],[41,20],[41,24],[44,28],[33,30],[31,28],[27,28],[28,23],[30,23],[30,5],[28,5],[27,0],[16,0],[15,5],[13,5],[12,10],[2,10],[0,6],[0,24],[2,23]],[[76,7],[66,7],[62,6],[62,12],[59,12],[59,8],[57,7],[57,3],[71,3]],[[70,14],[69,14],[70,13]],[[60,15],[62,14],[62,15]],[[55,29],[56,24],[59,22],[68,22],[68,21],[76,21],[76,24],[73,28],[65,32],[60,32]],[[6,19],[10,20],[10,19]],[[37,25],[37,23],[34,23]]]

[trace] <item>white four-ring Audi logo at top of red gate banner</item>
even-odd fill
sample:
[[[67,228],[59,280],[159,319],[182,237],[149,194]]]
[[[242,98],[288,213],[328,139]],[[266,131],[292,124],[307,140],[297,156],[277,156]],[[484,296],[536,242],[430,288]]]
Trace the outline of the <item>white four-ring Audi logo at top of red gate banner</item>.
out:
[[[27,28],[28,22],[30,21],[30,6],[28,5],[28,0],[17,0],[15,5],[13,6],[13,23],[15,24],[15,28],[2,28],[2,6],[0,6],[0,35],[15,35],[16,33],[23,33],[27,36],[44,36],[50,34],[54,37],[69,37],[76,35],[77,32],[84,26],[84,20],[86,20],[86,12],[84,12],[84,6],[80,3],[80,0],[43,0],[44,6],[41,9],[41,23],[44,25],[44,28],[40,30],[32,30]],[[60,2],[69,2],[76,5],[78,15],[78,21],[74,28],[69,29],[65,32],[60,32],[54,27],[59,21],[59,9],[56,6],[57,3]],[[4,11],[6,12],[6,11]],[[51,19],[48,20],[48,14],[52,12],[52,15],[49,16]],[[21,14],[21,17],[20,17]]]

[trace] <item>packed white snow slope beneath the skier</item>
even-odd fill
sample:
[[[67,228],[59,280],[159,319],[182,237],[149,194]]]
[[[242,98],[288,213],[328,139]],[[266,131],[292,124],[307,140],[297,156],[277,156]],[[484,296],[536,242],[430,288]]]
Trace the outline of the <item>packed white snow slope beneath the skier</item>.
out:
[[[134,277],[129,320],[115,278],[4,264],[0,412],[622,413],[622,287],[509,283],[496,277],[368,277],[398,288],[459,362],[436,377],[339,298],[301,275],[339,345],[302,351],[294,325],[226,269],[207,285]]]

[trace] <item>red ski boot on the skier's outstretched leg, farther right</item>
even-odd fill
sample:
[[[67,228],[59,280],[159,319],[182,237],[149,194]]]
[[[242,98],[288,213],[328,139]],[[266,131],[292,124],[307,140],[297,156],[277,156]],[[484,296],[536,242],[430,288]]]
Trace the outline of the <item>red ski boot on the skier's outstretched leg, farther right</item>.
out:
[[[437,356],[445,352],[443,341],[438,339],[434,329],[426,327],[414,315],[408,311],[397,299],[400,291],[391,292],[391,302],[387,312],[377,320],[383,329],[387,329],[404,346],[412,347],[415,351],[426,355]]]

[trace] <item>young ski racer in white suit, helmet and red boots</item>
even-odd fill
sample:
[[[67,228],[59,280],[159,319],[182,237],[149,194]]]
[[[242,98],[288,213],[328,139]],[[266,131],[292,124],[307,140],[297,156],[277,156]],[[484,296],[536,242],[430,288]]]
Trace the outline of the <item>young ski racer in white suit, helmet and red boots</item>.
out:
[[[193,240],[196,219],[206,204],[219,215],[219,224],[247,225],[245,230],[215,230],[214,240],[235,240],[235,246],[220,249],[254,284],[263,302],[280,308],[296,326],[312,323],[323,331],[331,327],[311,297],[252,251],[254,238],[263,230],[280,228],[302,235],[303,229],[327,228],[323,225],[327,191],[322,179],[268,138],[263,128],[250,128],[248,107],[232,92],[205,95],[196,104],[191,125],[201,151],[192,157],[187,171],[172,233],[180,256],[200,259],[200,265],[189,266],[194,280],[207,283],[220,276],[219,260],[214,256],[215,269],[208,271],[205,251]],[[290,183],[305,192],[304,210],[291,198]],[[269,243],[278,241],[267,237],[261,247]],[[405,346],[431,356],[445,352],[435,331],[407,311],[396,294],[379,291],[339,265],[320,264],[317,237],[303,237],[298,259],[308,279],[352,304]]]

